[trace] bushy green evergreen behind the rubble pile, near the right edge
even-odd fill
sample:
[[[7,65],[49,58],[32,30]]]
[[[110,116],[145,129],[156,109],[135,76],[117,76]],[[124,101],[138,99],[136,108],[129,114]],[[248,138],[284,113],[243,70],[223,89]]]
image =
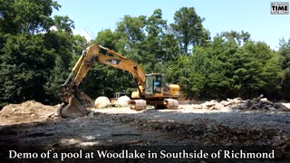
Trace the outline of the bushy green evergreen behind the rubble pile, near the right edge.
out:
[[[268,97],[275,96],[281,87],[279,78],[279,65],[275,53],[266,43],[247,42],[242,47],[246,54],[246,61],[242,66],[247,71],[242,81],[243,90],[247,97],[255,97],[266,94]]]

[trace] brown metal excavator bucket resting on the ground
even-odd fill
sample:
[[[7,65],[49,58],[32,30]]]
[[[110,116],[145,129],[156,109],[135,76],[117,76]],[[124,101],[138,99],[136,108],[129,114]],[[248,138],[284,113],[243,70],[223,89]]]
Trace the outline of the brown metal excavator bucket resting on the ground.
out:
[[[62,118],[78,118],[89,114],[89,110],[86,110],[80,101],[72,95],[69,99],[69,104],[62,105],[58,108],[58,114]]]

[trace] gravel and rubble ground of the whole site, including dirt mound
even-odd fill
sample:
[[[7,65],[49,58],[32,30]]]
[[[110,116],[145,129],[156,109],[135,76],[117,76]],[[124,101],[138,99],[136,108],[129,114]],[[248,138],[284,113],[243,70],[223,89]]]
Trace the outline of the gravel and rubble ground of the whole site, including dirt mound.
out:
[[[102,146],[270,147],[290,158],[290,104],[266,98],[180,101],[178,110],[108,106],[63,119],[36,101],[0,111],[1,147],[96,149]],[[207,161],[205,161],[207,162]]]

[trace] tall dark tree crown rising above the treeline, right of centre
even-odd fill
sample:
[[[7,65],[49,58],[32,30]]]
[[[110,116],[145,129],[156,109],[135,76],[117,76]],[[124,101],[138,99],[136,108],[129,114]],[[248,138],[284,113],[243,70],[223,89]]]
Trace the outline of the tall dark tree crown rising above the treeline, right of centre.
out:
[[[182,53],[189,55],[189,47],[208,43],[209,32],[194,7],[182,7],[174,14],[174,24],[170,24],[173,33],[179,40]]]

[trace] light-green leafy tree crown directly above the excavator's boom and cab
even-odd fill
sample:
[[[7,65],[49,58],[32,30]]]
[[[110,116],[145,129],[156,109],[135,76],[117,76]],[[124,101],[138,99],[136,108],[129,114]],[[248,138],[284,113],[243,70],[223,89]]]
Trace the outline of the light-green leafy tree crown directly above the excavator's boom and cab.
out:
[[[156,9],[148,18],[145,15],[125,15],[115,32],[104,32],[111,33],[110,38],[114,39],[111,43],[115,44],[116,51],[139,62],[146,72],[155,72],[158,62],[174,60],[179,53],[177,39],[169,33],[167,21],[162,18],[160,9]],[[102,34],[98,34],[99,37],[103,37]]]

